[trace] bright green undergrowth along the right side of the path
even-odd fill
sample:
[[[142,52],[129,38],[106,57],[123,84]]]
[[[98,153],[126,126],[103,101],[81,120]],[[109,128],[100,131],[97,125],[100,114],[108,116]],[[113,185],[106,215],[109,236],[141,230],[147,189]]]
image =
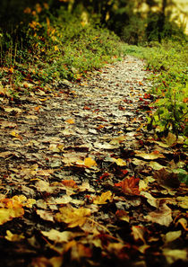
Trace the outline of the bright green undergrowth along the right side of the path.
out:
[[[179,135],[188,134],[188,47],[186,40],[164,40],[161,44],[150,42],[147,46],[124,46],[124,53],[147,60],[147,68],[153,75],[151,93],[157,107],[150,118],[149,129],[154,128],[158,136],[169,131]]]

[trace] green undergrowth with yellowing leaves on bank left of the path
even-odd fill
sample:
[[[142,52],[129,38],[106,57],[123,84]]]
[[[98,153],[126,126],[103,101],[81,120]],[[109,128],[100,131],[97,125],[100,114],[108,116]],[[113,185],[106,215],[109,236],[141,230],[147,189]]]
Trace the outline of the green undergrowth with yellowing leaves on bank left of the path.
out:
[[[24,81],[56,86],[63,79],[79,80],[121,55],[120,40],[113,32],[76,15],[64,10],[58,16],[47,10],[26,12],[32,20],[21,29],[21,38],[17,38],[20,29],[11,34],[0,29],[1,94],[19,97]]]

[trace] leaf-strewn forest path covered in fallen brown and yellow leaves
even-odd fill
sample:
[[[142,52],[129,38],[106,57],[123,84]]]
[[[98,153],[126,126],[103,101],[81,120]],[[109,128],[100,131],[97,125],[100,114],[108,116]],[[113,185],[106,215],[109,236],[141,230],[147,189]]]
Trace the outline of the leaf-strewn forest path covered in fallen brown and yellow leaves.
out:
[[[187,187],[171,171],[186,154],[146,128],[145,68],[126,56],[0,98],[0,266],[187,264]]]

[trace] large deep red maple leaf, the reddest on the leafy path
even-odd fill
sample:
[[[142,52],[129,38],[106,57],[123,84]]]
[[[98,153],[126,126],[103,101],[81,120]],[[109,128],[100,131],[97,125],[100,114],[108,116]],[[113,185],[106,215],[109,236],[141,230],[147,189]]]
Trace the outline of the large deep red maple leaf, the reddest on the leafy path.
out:
[[[115,186],[119,186],[122,188],[124,194],[128,195],[140,195],[139,191],[139,178],[125,178],[122,182],[115,183]]]

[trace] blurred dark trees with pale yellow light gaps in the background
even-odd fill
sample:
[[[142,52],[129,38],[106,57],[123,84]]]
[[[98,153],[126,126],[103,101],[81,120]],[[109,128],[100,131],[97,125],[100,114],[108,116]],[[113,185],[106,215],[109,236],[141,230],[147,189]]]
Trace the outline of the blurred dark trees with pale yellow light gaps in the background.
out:
[[[174,0],[1,0],[0,29],[12,32],[19,25],[27,25],[36,4],[47,4],[47,13],[57,15],[66,10],[92,21],[99,27],[115,31],[122,40],[137,44],[146,40],[159,40],[172,36],[175,31],[186,30],[186,10],[182,1]],[[184,1],[183,1],[184,2]],[[184,3],[183,3],[184,4]],[[43,16],[44,18],[44,16]],[[180,20],[181,18],[181,20]],[[180,28],[176,28],[176,24]],[[176,32],[177,33],[177,32]]]

